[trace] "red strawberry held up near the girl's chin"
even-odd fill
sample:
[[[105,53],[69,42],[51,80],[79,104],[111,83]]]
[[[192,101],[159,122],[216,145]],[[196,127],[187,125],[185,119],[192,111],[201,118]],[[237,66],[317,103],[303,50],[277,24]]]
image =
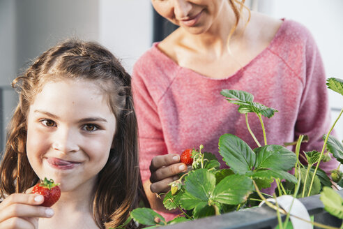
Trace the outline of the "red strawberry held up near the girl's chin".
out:
[[[45,177],[43,181],[33,187],[32,193],[43,195],[44,202],[41,205],[51,207],[59,200],[61,189],[59,189],[59,184],[55,184],[52,179],[48,180],[47,177]]]

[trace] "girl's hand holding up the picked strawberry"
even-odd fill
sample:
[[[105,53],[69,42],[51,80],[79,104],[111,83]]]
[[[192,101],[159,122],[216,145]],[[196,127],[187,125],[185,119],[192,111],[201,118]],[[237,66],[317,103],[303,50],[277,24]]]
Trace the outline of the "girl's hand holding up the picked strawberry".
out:
[[[15,193],[0,203],[0,228],[37,229],[38,217],[50,218],[54,211],[39,206],[43,195]]]

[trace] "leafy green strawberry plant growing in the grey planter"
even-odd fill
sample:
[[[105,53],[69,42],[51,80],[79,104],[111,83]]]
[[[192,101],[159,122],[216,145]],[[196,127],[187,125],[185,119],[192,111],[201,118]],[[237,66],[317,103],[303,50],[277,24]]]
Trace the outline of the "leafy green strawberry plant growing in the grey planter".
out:
[[[327,85],[329,89],[343,95],[343,80],[330,78]],[[236,135],[227,133],[220,136],[219,153],[229,167],[222,169],[214,154],[201,152],[202,145],[199,149],[185,150],[185,159],[191,163],[192,170],[181,174],[179,179],[169,184],[171,190],[168,193],[162,193],[165,208],[178,209],[181,214],[167,222],[152,209],[137,208],[130,213],[126,223],[133,219],[146,226],[165,226],[253,207],[261,200],[266,200],[265,196],[270,196],[261,193],[260,190],[270,187],[273,182],[277,184],[275,193],[271,196],[275,200],[277,195],[293,195],[294,198],[302,198],[321,193],[321,200],[326,206],[326,211],[343,219],[343,200],[332,190],[330,177],[319,168],[321,161],[330,160],[328,152],[332,153],[337,161],[343,163],[343,145],[330,135],[343,109],[328,134],[323,135],[324,144],[321,152],[304,152],[307,165],[303,165],[299,160],[300,145],[307,141],[307,136],[300,135],[296,142],[284,144],[285,146],[296,145],[295,152],[291,152],[283,145],[267,144],[263,119],[273,117],[277,110],[254,102],[254,96],[246,91],[222,90],[221,94],[229,103],[238,105],[238,112],[245,115],[247,131],[250,132],[258,147],[250,148]],[[263,145],[250,129],[249,113],[254,113],[259,118],[264,135]],[[292,169],[294,169],[294,175],[289,173]],[[339,186],[343,186],[342,172],[339,168],[332,171],[331,177]],[[280,210],[277,205],[270,202],[266,204],[277,210],[279,227],[287,228],[289,213]],[[284,223],[281,221],[280,212],[287,214]],[[314,224],[320,226],[318,223]],[[119,228],[124,226],[125,223]]]

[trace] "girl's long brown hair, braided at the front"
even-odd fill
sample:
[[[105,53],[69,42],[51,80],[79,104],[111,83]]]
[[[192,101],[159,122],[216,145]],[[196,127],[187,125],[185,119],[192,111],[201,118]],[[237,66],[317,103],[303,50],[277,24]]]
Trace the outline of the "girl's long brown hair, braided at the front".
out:
[[[100,228],[116,227],[144,198],[139,174],[137,120],[131,77],[119,59],[98,43],[66,40],[40,55],[12,86],[19,102],[8,126],[1,161],[0,195],[22,193],[38,182],[26,156],[26,117],[29,106],[48,80],[64,78],[96,81],[108,96],[116,117],[114,149],[98,175],[93,195],[93,216]]]

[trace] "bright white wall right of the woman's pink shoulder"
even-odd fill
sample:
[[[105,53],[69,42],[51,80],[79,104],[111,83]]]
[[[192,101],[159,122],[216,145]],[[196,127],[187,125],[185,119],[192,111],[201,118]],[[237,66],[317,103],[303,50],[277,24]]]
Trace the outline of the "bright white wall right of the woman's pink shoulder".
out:
[[[342,0],[253,0],[261,13],[276,18],[287,18],[304,24],[317,42],[326,77],[343,79],[343,1]],[[343,97],[329,90],[332,119],[343,108]],[[333,120],[334,121],[334,120]],[[343,117],[335,127],[343,139]]]

